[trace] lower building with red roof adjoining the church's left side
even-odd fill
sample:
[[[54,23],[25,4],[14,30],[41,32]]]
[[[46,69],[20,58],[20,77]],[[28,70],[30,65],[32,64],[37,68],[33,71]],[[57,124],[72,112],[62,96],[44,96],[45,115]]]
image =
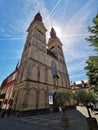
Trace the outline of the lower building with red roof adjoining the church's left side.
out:
[[[13,103],[13,89],[14,84],[17,76],[16,69],[6,78],[3,80],[1,87],[0,87],[0,109],[8,110],[12,107]]]

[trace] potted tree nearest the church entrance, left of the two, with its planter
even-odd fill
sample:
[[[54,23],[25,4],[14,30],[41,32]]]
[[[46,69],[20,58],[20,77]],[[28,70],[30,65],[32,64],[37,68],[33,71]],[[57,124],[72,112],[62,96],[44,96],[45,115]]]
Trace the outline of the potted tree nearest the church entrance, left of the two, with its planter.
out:
[[[69,119],[68,119],[68,116],[65,114],[65,111],[66,111],[66,103],[68,103],[68,101],[70,101],[70,93],[56,92],[55,99],[57,101],[57,104],[59,105],[59,107],[62,109],[62,112],[63,112],[62,117],[61,117],[62,126],[68,126]]]

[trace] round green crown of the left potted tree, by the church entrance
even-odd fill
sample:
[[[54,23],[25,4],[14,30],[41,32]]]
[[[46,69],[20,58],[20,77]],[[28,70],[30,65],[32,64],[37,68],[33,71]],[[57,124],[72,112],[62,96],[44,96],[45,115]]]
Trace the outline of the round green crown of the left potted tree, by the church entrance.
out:
[[[70,101],[70,93],[68,92],[56,92],[55,99],[61,108],[65,108],[66,102]]]

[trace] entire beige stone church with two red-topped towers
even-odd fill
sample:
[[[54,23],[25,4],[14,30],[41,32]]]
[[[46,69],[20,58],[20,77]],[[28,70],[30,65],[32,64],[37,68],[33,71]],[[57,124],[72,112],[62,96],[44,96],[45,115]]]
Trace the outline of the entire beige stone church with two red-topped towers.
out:
[[[27,29],[20,65],[13,90],[13,111],[43,112],[53,104],[49,96],[57,91],[71,91],[62,43],[55,29],[46,43],[46,27],[37,13]]]

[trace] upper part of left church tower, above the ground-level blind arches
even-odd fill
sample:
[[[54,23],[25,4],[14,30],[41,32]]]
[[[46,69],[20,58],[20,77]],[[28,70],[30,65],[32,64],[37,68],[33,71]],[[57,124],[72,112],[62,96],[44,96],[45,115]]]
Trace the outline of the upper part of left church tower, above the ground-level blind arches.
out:
[[[42,16],[37,13],[27,30],[28,35],[21,58],[20,74],[17,82],[24,80],[39,81],[40,62],[46,62],[46,31]]]

